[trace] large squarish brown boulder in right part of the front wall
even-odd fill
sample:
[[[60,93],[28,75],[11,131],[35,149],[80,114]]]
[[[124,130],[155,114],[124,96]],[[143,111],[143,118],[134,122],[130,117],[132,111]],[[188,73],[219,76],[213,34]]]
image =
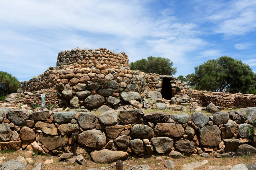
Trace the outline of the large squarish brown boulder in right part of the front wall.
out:
[[[221,130],[216,125],[203,127],[199,134],[202,146],[215,147],[221,142]]]

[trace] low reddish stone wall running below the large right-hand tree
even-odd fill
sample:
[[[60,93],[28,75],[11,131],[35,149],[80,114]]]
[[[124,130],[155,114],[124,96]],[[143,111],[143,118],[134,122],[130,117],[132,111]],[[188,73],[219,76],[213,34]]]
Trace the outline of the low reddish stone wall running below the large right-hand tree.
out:
[[[210,102],[222,109],[256,106],[256,95],[254,94],[193,91],[190,96],[197,99],[205,107]]]

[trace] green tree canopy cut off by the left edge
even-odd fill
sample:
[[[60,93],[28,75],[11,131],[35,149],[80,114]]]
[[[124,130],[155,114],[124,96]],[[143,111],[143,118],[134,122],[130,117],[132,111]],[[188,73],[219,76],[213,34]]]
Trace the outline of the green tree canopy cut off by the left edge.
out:
[[[19,80],[7,72],[0,71],[0,96],[17,92]]]

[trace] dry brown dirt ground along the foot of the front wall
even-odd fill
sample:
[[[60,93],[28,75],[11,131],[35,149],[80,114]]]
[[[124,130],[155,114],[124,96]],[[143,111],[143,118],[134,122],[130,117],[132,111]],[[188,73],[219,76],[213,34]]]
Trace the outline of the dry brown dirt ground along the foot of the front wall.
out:
[[[2,156],[6,157],[4,161],[11,161],[11,160],[16,160],[18,156],[24,156],[25,153],[26,151],[8,151],[8,152],[1,151],[0,157]],[[37,163],[42,163],[42,170],[80,170],[80,169],[85,170],[87,168],[98,168],[100,170],[101,167],[108,167],[113,164],[113,163],[107,163],[107,164],[95,163],[90,159],[90,155],[85,157],[85,159],[87,160],[87,163],[85,165],[80,165],[77,162],[73,164],[68,164],[65,161],[60,161],[58,157],[54,157],[51,155],[38,155],[37,153],[34,154],[31,158],[33,160],[33,163],[27,163],[26,170],[31,170],[36,166]],[[53,164],[45,165],[44,162],[47,159],[53,159]],[[231,165],[233,167],[239,163],[244,163],[246,165],[250,163],[256,163],[256,155],[249,155],[249,156],[245,155],[245,156],[238,156],[234,158],[232,157],[202,158],[199,155],[195,155],[195,156],[186,156],[185,158],[179,158],[179,159],[169,158],[168,155],[144,155],[143,157],[140,157],[140,158],[129,157],[124,162],[133,166],[147,164],[151,170],[167,170],[167,168],[164,167],[165,160],[174,161],[175,170],[180,170],[182,165],[185,163],[207,160],[208,163],[206,165],[203,165],[199,168],[195,168],[195,170],[206,170],[208,169],[207,168],[208,166]],[[124,170],[129,168],[130,168],[129,166],[124,165]],[[114,170],[114,169],[116,169],[116,167],[110,168],[110,170]]]

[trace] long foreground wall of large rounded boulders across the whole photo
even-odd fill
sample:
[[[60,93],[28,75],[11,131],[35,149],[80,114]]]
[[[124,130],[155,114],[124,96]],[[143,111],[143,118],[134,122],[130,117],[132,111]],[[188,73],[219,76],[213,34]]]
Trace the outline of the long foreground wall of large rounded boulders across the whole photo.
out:
[[[105,109],[103,109],[105,108]],[[103,113],[36,111],[1,108],[1,149],[20,148],[58,155],[72,152],[72,133],[79,133],[77,154],[90,153],[95,162],[113,162],[129,155],[170,153],[171,157],[204,152],[226,157],[227,152],[256,153],[256,134],[249,133],[256,108],[219,112],[168,115],[144,114],[143,110]],[[247,112],[247,114],[246,114]]]

